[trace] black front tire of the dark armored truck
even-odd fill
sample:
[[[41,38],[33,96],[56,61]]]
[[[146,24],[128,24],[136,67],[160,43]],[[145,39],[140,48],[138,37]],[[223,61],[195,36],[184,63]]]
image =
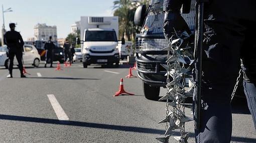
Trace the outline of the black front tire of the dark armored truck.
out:
[[[159,99],[160,87],[150,86],[149,84],[143,82],[143,91],[147,99],[150,99],[150,100]]]

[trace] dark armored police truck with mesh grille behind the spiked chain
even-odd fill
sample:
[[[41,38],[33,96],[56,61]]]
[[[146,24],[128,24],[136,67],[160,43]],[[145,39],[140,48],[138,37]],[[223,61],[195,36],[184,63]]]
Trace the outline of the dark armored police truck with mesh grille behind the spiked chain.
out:
[[[195,4],[195,0],[191,3]],[[194,31],[195,8],[191,8],[189,14],[182,16]],[[135,13],[135,23],[142,26],[141,32],[136,36],[138,76],[143,80],[146,98],[157,100],[160,87],[166,85],[166,69],[160,64],[167,60],[167,51],[161,49],[169,44],[163,34],[163,0],[152,0],[148,8],[146,5],[139,6]]]

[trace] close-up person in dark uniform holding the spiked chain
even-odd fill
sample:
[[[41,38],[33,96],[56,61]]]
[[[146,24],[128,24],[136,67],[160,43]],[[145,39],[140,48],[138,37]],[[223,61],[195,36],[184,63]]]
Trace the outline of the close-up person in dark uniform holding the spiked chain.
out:
[[[168,40],[173,28],[187,28],[180,9],[188,1],[191,0],[164,0],[164,35]],[[244,93],[256,128],[255,7],[255,0],[209,0],[204,4],[202,105],[196,142],[230,142],[230,98],[240,59]]]

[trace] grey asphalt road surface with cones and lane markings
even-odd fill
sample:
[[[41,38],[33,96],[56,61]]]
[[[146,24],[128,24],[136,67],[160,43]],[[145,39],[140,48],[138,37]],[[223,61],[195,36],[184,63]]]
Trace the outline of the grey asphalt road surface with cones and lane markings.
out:
[[[124,78],[125,90],[136,95],[112,96],[128,65],[61,66],[60,71],[27,67],[28,78],[20,78],[16,68],[11,79],[0,67],[0,142],[158,142],[155,137],[165,132],[165,124],[157,123],[165,116],[165,102],[146,99],[139,78]],[[231,142],[256,142],[246,101],[236,99],[232,106]],[[186,112],[192,117],[190,102]],[[194,142],[193,122],[186,131]]]

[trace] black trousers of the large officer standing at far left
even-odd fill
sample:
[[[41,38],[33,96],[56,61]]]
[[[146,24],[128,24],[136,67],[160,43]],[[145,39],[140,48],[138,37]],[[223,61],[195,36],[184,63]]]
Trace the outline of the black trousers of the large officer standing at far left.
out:
[[[9,59],[10,59],[9,73],[10,74],[13,74],[14,56],[15,55],[16,55],[17,61],[19,63],[19,69],[21,71],[21,74],[23,74],[22,54],[23,54],[22,51],[9,52]]]

